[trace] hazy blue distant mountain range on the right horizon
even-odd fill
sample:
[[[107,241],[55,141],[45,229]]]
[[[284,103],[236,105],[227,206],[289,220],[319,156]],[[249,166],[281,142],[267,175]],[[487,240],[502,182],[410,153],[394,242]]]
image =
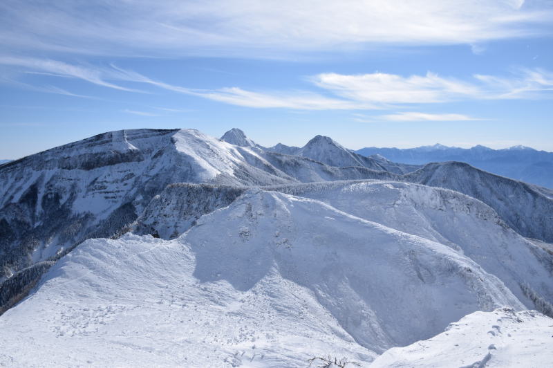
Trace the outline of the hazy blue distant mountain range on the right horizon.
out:
[[[461,161],[487,172],[553,188],[553,152],[520,145],[506,149],[491,149],[482,145],[459,148],[440,144],[408,149],[365,147],[355,152],[411,165]]]

